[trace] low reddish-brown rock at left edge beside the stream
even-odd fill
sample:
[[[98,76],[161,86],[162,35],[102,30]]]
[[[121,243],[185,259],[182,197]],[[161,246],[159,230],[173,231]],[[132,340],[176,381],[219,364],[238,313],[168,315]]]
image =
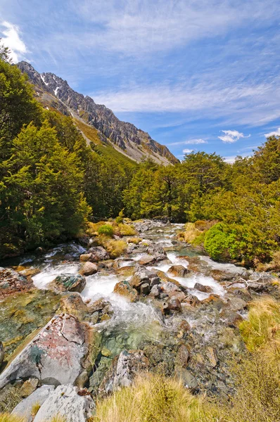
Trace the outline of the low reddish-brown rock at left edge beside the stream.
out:
[[[0,267],[0,299],[14,293],[27,292],[34,288],[31,279],[18,274],[11,268]]]

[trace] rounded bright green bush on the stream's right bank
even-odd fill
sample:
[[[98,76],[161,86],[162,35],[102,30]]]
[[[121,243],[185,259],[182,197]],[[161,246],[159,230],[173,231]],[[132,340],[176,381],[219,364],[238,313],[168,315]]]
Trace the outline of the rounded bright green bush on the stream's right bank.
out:
[[[225,224],[217,223],[205,234],[204,248],[214,260],[238,257],[238,240],[235,232]]]

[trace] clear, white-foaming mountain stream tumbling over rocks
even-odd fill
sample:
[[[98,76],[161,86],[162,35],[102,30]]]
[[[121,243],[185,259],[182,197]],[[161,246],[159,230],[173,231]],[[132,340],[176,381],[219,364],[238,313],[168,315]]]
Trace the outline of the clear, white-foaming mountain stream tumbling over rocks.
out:
[[[87,388],[94,391],[104,383],[120,352],[142,350],[151,371],[167,376],[179,374],[194,392],[227,397],[234,388],[229,360],[244,350],[238,322],[247,317],[248,302],[261,294],[246,288],[243,281],[255,280],[256,274],[234,264],[214,262],[178,241],[177,233],[184,224],[144,222],[136,224],[136,229],[142,238],[139,245],[130,243],[124,256],[99,264],[98,272],[86,277],[86,286],[80,293],[88,306],[103,299],[110,308],[101,321],[88,319],[96,335],[96,352]],[[151,246],[163,248],[166,257],[147,264],[146,269],[165,279],[165,287],[170,285],[170,279],[177,283],[175,293],[182,300],[180,312],[163,312],[164,300],[170,299],[166,292],[158,298],[139,295],[135,302],[114,293],[117,283],[129,283]],[[56,276],[77,275],[81,267],[79,255],[84,252],[82,245],[65,243],[43,255],[26,254],[5,263],[17,271],[39,271],[32,275],[35,290],[1,301],[0,340],[7,356],[59,309],[61,295],[49,290],[48,285]],[[174,266],[181,270],[184,267],[186,274],[174,274]],[[184,291],[183,299],[180,289]],[[188,350],[187,357],[182,357],[182,347]]]

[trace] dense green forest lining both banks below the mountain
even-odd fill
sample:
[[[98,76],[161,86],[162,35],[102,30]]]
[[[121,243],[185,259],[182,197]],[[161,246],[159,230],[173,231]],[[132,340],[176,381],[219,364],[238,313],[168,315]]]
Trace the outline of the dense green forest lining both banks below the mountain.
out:
[[[1,257],[120,215],[189,223],[190,243],[215,260],[280,261],[279,137],[232,165],[201,151],[166,167],[118,160],[87,145],[71,117],[44,109],[3,47],[0,59]]]

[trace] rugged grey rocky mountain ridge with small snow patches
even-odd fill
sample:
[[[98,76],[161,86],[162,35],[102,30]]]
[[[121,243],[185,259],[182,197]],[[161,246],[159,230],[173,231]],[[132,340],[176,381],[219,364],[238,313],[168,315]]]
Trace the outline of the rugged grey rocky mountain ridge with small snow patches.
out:
[[[106,106],[96,104],[89,96],[74,91],[67,81],[53,73],[40,74],[30,63],[22,61],[18,68],[27,73],[40,102],[46,108],[56,108],[65,115],[71,115],[87,141],[96,145],[113,146],[115,150],[134,161],[152,158],[163,165],[179,162],[166,146],[151,139],[151,136],[137,129],[134,124],[122,122]],[[88,136],[94,129],[94,139]]]

